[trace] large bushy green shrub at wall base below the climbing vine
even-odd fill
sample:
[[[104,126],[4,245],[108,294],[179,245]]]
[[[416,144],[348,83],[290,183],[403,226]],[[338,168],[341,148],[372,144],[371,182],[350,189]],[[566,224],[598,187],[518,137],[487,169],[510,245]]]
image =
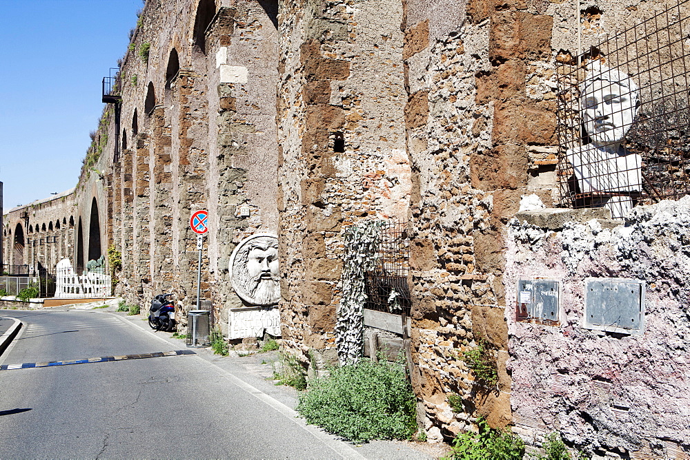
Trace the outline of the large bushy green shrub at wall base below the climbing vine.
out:
[[[308,424],[355,442],[410,439],[416,400],[403,366],[369,359],[331,369],[299,397]]]

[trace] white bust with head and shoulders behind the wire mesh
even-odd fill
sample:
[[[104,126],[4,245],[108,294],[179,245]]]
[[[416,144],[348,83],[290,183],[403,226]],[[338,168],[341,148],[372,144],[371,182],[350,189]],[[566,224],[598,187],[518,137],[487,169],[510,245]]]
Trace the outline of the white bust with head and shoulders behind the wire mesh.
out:
[[[638,112],[640,91],[623,72],[606,65],[587,66],[580,86],[580,114],[590,143],[569,149],[580,193],[591,205],[621,218],[642,190],[642,157],[620,145]]]

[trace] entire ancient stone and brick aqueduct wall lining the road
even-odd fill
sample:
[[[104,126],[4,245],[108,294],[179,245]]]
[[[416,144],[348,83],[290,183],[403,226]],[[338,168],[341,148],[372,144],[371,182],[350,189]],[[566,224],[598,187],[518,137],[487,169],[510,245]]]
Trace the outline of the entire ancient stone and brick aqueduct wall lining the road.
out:
[[[122,254],[115,292],[141,305],[175,293],[184,327],[197,300],[188,222],[207,209],[204,308],[233,340],[279,328],[284,351],[312,377],[338,360],[346,231],[400,222],[411,322],[375,311],[364,348],[375,355],[372,317],[383,342],[404,344],[428,439],[452,439],[484,416],[530,448],[560,432],[593,458],[687,454],[690,202],[632,207],[638,200],[618,220],[601,207],[566,209],[575,203],[557,176],[573,174],[562,165],[572,147],[559,145],[556,106],[580,103],[557,99],[564,65],[579,82],[583,64],[611,65],[593,48],[604,36],[624,37],[615,33],[626,23],[669,6],[669,21],[687,17],[689,4],[148,0],[121,63],[121,102],[104,110],[77,188],[4,216],[4,263],[69,257],[79,266],[112,246]],[[641,70],[624,72],[639,83]],[[636,113],[650,113],[644,103]],[[632,103],[615,104],[632,114]],[[591,132],[607,129],[597,118]],[[588,145],[580,124],[568,129]],[[667,163],[683,185],[680,160]],[[277,235],[277,268],[268,235]],[[50,252],[28,244],[48,236],[59,240]],[[249,293],[237,295],[230,261],[253,236],[261,244],[236,252],[253,264],[235,287]],[[267,284],[254,297],[248,278],[259,272]],[[640,302],[628,302],[638,322],[583,319],[605,304],[592,304],[604,294],[587,293],[586,282],[605,295],[631,286],[629,300],[638,289]],[[557,319],[528,315],[532,295],[558,297],[549,304]],[[343,337],[357,354],[359,305],[348,311],[341,324],[357,324]],[[480,344],[495,384],[466,362]]]

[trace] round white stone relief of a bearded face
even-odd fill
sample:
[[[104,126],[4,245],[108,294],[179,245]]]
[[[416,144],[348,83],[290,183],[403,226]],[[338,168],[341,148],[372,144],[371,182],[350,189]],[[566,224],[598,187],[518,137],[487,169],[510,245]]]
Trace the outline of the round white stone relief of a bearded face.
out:
[[[244,238],[230,256],[233,289],[251,305],[275,305],[280,300],[278,238],[257,233]]]

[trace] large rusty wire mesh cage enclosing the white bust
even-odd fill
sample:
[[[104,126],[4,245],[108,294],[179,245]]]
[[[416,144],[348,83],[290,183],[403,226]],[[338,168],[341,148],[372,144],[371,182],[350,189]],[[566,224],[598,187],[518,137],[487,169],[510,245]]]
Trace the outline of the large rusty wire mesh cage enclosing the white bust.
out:
[[[689,2],[557,57],[561,205],[621,218],[690,192]]]

